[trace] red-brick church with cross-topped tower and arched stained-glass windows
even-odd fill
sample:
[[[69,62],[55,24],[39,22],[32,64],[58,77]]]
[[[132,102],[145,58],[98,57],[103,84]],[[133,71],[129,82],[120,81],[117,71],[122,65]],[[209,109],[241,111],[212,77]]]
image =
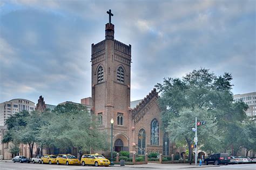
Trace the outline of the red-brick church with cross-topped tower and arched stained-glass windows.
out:
[[[142,100],[131,101],[131,45],[114,39],[114,24],[105,25],[105,39],[91,45],[92,108],[100,129],[111,134],[113,150],[137,154],[173,153],[166,133],[161,129],[158,93],[153,89]],[[165,146],[166,142],[166,146]],[[165,153],[166,149],[166,153]]]

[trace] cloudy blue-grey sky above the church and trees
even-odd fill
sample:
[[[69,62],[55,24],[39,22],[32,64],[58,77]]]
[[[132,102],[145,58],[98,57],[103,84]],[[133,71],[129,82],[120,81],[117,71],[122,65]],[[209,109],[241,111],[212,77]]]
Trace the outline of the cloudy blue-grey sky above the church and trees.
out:
[[[23,98],[80,103],[91,96],[91,44],[132,45],[131,100],[194,69],[233,76],[256,91],[256,1],[0,1],[0,103]]]

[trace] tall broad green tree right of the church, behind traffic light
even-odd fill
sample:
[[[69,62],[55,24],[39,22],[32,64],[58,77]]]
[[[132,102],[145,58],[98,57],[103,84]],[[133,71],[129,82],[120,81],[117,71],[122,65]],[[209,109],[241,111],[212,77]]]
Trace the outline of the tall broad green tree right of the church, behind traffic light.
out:
[[[189,156],[192,153],[194,135],[191,128],[194,127],[195,116],[207,121],[207,125],[199,127],[201,147],[211,151],[223,149],[217,145],[226,130],[222,121],[228,120],[234,111],[231,80],[229,73],[217,77],[207,69],[199,69],[182,79],[165,78],[163,84],[156,85],[161,96],[159,104],[163,127],[173,141],[186,140]],[[244,118],[245,107],[235,108],[238,114],[235,118]]]

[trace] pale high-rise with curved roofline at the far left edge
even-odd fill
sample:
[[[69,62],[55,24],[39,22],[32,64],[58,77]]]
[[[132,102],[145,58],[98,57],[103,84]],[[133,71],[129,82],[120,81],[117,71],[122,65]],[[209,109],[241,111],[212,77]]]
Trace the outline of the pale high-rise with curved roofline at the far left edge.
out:
[[[0,103],[0,126],[4,126],[5,120],[11,115],[23,110],[29,113],[35,110],[35,103],[26,99],[12,99]]]

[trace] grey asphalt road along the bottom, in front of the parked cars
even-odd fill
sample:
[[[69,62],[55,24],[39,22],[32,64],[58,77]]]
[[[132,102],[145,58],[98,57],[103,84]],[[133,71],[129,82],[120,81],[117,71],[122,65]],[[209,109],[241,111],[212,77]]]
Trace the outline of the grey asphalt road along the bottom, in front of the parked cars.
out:
[[[212,170],[212,169],[245,169],[245,170],[255,170],[256,169],[256,164],[238,164],[238,165],[221,165],[221,166],[204,166],[204,167],[194,167],[191,165],[187,164],[152,164],[149,163],[147,165],[126,165],[124,167],[120,167],[119,165],[111,166],[111,167],[94,167],[94,166],[66,166],[66,165],[48,165],[48,164],[28,164],[28,163],[12,163],[12,162],[0,162],[0,169],[187,169],[187,170],[192,170],[192,169],[199,169],[199,170]]]

